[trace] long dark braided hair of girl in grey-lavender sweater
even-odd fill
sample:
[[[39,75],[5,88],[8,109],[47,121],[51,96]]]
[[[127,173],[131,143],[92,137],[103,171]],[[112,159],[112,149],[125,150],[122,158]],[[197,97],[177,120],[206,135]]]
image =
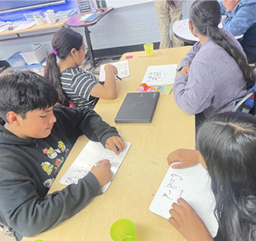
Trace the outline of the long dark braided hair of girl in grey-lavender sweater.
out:
[[[249,90],[255,84],[255,74],[244,55],[233,44],[230,44],[229,39],[219,30],[220,17],[220,4],[215,0],[197,0],[192,3],[189,10],[189,21],[197,27],[198,32],[209,36],[212,42],[225,49],[235,59],[243,72]]]

